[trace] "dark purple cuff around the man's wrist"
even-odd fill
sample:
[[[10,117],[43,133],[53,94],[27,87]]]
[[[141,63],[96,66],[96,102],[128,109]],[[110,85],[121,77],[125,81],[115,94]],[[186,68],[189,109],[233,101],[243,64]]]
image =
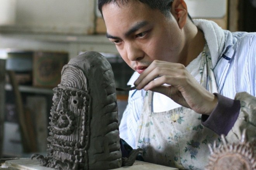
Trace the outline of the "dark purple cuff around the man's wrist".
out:
[[[237,121],[240,111],[240,101],[229,99],[218,93],[213,93],[218,98],[218,104],[211,115],[202,115],[202,125],[213,130],[218,135],[227,135]]]

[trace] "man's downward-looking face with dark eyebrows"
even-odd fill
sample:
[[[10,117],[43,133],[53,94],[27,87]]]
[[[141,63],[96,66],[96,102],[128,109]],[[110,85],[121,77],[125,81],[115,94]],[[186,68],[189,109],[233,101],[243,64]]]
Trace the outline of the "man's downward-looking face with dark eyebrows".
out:
[[[183,31],[173,15],[166,17],[137,0],[127,5],[108,3],[102,14],[107,37],[133,70],[142,73],[156,59],[180,62]]]

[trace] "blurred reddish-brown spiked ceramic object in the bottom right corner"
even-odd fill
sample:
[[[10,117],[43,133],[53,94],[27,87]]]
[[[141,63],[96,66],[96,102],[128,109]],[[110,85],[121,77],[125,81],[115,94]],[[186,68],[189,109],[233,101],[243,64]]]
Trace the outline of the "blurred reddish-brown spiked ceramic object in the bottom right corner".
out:
[[[239,143],[227,143],[221,136],[222,145],[209,145],[211,155],[206,170],[256,170],[256,140],[246,141],[244,130]]]

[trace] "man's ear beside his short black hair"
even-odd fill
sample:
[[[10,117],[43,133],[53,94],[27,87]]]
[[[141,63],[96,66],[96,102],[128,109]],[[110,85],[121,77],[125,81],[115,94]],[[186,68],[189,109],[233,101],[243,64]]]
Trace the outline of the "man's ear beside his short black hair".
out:
[[[187,4],[184,0],[174,0],[171,4],[171,13],[175,17],[180,29],[182,29],[187,22]]]

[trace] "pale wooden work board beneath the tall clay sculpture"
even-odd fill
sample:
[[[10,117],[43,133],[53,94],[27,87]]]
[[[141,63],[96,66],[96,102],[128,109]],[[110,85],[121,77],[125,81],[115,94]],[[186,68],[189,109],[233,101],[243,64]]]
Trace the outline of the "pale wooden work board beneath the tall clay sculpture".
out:
[[[17,160],[5,161],[5,165],[13,170],[55,170],[53,168],[42,167],[40,163],[30,158],[21,158]],[[131,167],[121,167],[114,170],[178,170],[177,168],[166,167],[162,165],[156,165],[147,162],[135,161]],[[4,170],[4,168],[2,168]]]

